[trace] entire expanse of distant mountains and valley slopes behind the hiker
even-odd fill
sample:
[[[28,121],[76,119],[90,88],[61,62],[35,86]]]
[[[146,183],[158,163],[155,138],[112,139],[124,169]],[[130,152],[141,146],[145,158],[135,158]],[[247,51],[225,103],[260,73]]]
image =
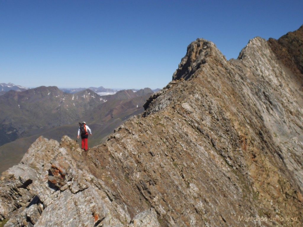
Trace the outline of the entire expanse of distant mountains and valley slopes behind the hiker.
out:
[[[68,93],[58,87],[1,85],[4,94],[0,96],[0,166],[8,166],[0,167],[0,173],[18,163],[41,135],[58,141],[62,135],[75,138],[79,121],[86,121],[93,131],[90,146],[101,143],[129,117],[142,113],[143,104],[154,93],[150,88],[134,92],[91,87],[98,93],[80,88]],[[12,89],[7,91],[9,88]],[[112,95],[100,96],[102,92]]]

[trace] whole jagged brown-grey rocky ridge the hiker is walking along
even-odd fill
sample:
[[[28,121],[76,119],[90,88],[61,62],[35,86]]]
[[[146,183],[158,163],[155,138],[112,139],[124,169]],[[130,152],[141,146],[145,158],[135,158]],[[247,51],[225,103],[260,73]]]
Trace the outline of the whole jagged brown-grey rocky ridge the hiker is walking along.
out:
[[[0,178],[5,226],[301,226],[301,63],[275,42],[227,61],[197,39],[145,112],[87,153],[40,137]]]

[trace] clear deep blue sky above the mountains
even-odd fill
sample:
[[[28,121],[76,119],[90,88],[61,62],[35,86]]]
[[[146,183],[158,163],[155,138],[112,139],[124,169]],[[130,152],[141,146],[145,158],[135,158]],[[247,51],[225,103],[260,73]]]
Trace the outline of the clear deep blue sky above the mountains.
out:
[[[227,59],[303,24],[303,1],[0,0],[0,83],[163,88],[187,46]]]

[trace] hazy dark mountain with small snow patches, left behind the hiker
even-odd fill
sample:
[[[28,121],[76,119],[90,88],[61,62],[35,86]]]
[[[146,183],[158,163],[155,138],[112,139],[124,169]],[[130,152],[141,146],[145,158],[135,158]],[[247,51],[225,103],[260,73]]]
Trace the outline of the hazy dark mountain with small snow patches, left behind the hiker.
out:
[[[3,107],[0,129],[5,132],[0,137],[0,145],[72,123],[105,101],[89,89],[75,94],[44,86],[20,92],[10,90],[0,96]]]

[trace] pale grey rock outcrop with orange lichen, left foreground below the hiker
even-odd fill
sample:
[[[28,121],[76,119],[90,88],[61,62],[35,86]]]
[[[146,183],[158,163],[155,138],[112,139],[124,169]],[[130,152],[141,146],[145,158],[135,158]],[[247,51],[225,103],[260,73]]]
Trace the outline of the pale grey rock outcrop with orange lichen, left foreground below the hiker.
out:
[[[81,170],[77,143],[68,137],[62,143],[68,147],[40,137],[19,165],[2,174],[0,214],[10,217],[5,226],[112,226],[117,222],[100,200],[100,183]]]

